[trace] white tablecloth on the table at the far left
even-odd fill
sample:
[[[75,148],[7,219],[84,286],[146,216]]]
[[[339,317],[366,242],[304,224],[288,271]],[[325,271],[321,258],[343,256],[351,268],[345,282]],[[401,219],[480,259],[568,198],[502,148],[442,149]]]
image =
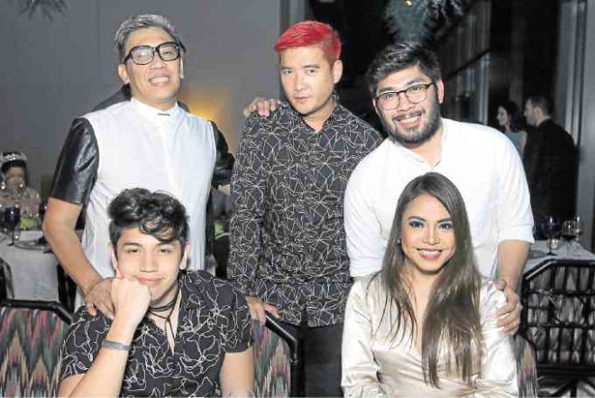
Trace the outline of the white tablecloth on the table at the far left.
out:
[[[21,240],[37,239],[41,235],[41,231],[23,231]],[[17,300],[58,301],[56,256],[41,250],[9,246],[10,241],[10,237],[0,234],[0,258],[7,268],[6,279],[12,285],[8,286],[8,297]]]

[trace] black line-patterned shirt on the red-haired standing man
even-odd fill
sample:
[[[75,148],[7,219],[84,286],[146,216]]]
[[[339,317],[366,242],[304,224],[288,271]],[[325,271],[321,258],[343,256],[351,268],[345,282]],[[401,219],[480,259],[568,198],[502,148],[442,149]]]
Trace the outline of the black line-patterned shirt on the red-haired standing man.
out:
[[[343,321],[351,286],[343,196],[380,134],[337,105],[318,133],[283,104],[243,129],[232,176],[228,273],[281,319],[311,327]]]

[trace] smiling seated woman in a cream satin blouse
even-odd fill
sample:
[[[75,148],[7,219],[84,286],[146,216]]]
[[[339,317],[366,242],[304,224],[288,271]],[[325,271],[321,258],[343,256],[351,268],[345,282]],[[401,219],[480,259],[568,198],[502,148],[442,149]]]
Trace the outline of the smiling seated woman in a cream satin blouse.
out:
[[[345,396],[517,396],[506,299],[477,271],[461,194],[437,173],[398,200],[384,264],[354,283],[343,329]]]

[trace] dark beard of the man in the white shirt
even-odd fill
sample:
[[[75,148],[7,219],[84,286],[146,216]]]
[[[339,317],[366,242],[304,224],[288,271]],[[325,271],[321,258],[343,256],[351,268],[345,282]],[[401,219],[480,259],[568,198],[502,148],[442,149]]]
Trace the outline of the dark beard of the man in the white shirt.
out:
[[[383,115],[380,117],[380,121],[389,136],[398,143],[414,146],[426,143],[426,141],[438,132],[438,128],[441,125],[439,106],[436,98],[432,102],[433,106],[430,107],[429,113],[427,114],[427,121],[424,125],[401,129],[393,124],[394,117],[393,120],[387,120]],[[420,110],[408,112],[404,117],[419,116],[420,114],[422,117],[426,116],[426,113],[423,110]]]

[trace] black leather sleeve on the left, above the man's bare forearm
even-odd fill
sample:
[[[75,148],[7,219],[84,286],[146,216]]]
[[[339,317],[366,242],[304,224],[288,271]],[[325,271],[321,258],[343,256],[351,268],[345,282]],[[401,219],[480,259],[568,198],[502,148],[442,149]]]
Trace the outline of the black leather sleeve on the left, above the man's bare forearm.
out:
[[[85,118],[75,119],[59,154],[50,197],[86,205],[98,166],[99,148],[93,127]]]

